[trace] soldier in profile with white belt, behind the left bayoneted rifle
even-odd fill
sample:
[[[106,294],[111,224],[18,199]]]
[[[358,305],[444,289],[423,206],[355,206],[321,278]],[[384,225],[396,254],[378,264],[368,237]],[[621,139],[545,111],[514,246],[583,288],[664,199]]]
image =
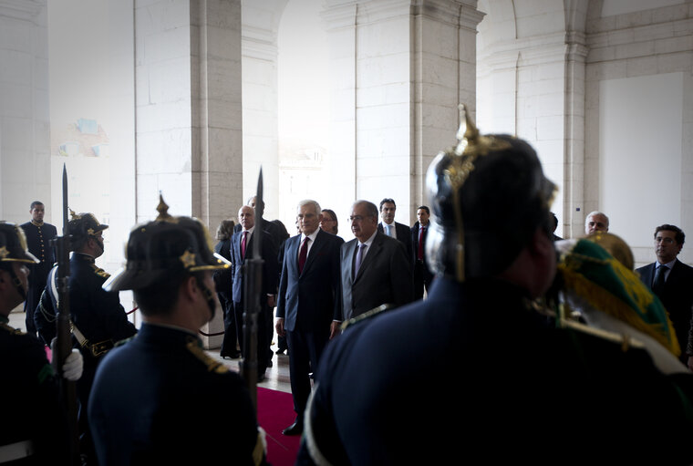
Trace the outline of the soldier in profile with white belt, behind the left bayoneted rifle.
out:
[[[88,398],[99,362],[114,345],[137,332],[120,305],[118,293],[104,290],[101,285],[109,274],[96,264],[104,253],[103,231],[109,225],[98,223],[93,213],[70,212],[69,305],[74,347],[84,357],[84,373],[78,380],[79,450],[89,463],[95,452],[88,428]],[[46,293],[34,315],[36,330],[47,345],[56,336],[57,267],[54,267],[46,285]]]

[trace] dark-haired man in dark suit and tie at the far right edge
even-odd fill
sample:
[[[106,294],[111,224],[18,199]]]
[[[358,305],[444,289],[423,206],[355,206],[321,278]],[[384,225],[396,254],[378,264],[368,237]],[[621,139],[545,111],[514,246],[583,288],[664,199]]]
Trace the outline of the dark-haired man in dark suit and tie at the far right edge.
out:
[[[693,305],[693,267],[677,259],[686,235],[674,225],[664,224],[655,229],[657,262],[637,269],[640,280],[652,289],[669,313],[681,347],[680,359],[693,368],[693,339],[690,319]]]

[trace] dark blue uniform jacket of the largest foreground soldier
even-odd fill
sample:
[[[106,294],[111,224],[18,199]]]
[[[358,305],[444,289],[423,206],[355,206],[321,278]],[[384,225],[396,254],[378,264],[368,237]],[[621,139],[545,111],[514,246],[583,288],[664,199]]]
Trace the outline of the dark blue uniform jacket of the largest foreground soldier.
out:
[[[439,277],[365,320],[323,354],[296,464],[308,445],[358,466],[693,461],[693,374],[547,326],[514,285]]]

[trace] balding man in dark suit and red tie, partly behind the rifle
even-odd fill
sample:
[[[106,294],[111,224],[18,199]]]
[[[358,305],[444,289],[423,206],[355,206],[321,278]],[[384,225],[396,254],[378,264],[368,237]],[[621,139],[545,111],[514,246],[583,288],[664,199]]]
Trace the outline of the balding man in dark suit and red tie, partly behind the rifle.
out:
[[[243,262],[246,258],[253,257],[253,238],[255,234],[262,234],[261,254],[263,256],[263,296],[266,300],[261,300],[262,311],[257,316],[257,381],[264,380],[264,371],[269,365],[271,355],[270,341],[265,331],[268,319],[272,319],[272,309],[274,308],[274,296],[276,295],[276,283],[279,271],[277,270],[277,250],[272,237],[269,233],[255,227],[255,211],[249,205],[243,205],[238,211],[238,221],[241,224],[241,231],[233,233],[231,237],[232,275],[233,275],[233,315],[236,318],[236,328],[243,328],[243,311],[245,301],[243,291],[245,286],[245,270]],[[270,320],[271,322],[271,320]],[[243,331],[238,332],[238,341],[241,345],[242,353],[245,351]],[[247,354],[243,353],[243,357]]]

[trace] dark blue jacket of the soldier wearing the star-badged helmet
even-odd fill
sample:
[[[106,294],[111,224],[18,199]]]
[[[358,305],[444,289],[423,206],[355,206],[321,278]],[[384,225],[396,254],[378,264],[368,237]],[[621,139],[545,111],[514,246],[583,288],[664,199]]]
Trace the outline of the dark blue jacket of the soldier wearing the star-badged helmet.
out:
[[[100,466],[263,461],[242,378],[183,329],[145,323],[104,357],[89,423]]]

